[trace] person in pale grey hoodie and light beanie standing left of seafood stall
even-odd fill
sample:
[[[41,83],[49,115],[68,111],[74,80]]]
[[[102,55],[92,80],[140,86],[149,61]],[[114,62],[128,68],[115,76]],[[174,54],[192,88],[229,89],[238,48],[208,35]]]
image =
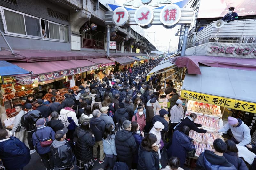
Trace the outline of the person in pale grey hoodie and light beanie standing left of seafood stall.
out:
[[[178,99],[176,101],[176,105],[172,106],[171,108],[171,117],[170,122],[171,126],[169,129],[169,138],[172,136],[173,128],[183,120],[184,117],[184,110],[182,108],[182,101]]]

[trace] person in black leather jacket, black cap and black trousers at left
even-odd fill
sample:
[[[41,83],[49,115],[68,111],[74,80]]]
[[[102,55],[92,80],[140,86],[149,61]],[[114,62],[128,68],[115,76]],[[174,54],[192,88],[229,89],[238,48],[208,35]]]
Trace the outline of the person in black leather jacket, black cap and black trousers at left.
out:
[[[28,145],[30,148],[30,154],[33,154],[36,152],[33,145],[32,135],[35,131],[35,124],[36,121],[42,117],[40,111],[33,110],[32,104],[27,103],[25,104],[25,108],[28,110],[28,112],[21,117],[21,125],[26,128],[26,131],[28,132]]]

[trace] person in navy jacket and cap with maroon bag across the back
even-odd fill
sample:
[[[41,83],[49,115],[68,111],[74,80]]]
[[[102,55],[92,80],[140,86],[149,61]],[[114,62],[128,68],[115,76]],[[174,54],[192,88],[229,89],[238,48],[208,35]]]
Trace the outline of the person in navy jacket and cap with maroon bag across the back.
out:
[[[37,130],[33,133],[33,145],[36,152],[40,155],[46,170],[54,169],[53,157],[50,146],[55,140],[55,132],[51,127],[45,126],[46,119],[40,118],[36,121]]]

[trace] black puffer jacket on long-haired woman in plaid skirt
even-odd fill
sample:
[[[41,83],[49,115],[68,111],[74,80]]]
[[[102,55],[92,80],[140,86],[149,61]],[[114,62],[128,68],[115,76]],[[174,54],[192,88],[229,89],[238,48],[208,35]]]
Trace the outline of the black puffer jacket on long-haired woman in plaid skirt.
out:
[[[76,159],[84,162],[91,160],[93,156],[92,146],[95,144],[95,138],[92,137],[92,133],[78,126],[75,136],[78,137],[75,145]]]

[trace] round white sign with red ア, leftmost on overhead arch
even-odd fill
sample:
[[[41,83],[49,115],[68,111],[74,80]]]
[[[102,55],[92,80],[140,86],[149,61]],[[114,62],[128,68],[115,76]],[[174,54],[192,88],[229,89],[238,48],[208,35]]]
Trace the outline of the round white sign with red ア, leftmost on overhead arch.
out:
[[[113,11],[113,23],[117,26],[123,26],[129,19],[129,13],[124,7],[118,7]]]

